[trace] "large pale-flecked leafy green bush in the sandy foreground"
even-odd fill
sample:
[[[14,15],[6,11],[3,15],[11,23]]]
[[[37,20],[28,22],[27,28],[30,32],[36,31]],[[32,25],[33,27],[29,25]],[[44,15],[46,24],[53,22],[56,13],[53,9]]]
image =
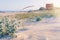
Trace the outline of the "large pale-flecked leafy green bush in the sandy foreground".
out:
[[[3,36],[14,36],[17,23],[16,20],[10,20],[7,16],[0,19],[0,38]]]

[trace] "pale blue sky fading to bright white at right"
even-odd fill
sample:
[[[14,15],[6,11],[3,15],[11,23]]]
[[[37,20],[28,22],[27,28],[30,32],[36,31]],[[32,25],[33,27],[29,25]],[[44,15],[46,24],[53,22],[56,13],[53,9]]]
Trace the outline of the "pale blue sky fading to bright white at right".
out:
[[[60,0],[0,0],[0,10],[21,11],[24,7],[32,5],[33,7],[24,10],[35,10],[40,7],[45,7],[47,3],[52,3],[55,7],[60,7]]]

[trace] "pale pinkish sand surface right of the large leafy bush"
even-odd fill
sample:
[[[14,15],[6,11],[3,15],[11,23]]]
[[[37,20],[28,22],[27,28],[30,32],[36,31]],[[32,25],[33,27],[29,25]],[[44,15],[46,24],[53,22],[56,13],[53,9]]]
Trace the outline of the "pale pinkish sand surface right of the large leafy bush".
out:
[[[60,40],[60,18],[49,21],[25,26],[29,30],[17,32],[18,36],[13,40]]]

